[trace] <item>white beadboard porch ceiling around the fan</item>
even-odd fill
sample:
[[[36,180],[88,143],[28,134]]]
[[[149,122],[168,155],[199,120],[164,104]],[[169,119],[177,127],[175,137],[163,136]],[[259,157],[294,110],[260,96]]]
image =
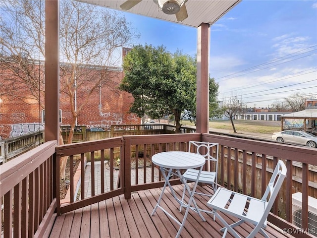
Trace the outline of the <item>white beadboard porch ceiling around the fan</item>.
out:
[[[104,6],[111,9],[121,10],[120,5],[126,0],[77,0]],[[143,16],[149,16],[175,22],[187,26],[198,27],[202,23],[213,24],[241,0],[188,0],[185,5],[188,17],[178,22],[176,16],[165,14],[159,9],[153,0],[142,0],[126,12],[131,12]]]

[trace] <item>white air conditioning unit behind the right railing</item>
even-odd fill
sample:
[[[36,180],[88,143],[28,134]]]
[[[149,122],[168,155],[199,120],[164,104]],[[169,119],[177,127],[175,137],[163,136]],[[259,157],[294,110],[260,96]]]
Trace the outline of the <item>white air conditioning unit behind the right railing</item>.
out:
[[[292,223],[302,228],[302,193],[292,194]],[[317,199],[308,196],[308,229],[309,232],[317,237]]]

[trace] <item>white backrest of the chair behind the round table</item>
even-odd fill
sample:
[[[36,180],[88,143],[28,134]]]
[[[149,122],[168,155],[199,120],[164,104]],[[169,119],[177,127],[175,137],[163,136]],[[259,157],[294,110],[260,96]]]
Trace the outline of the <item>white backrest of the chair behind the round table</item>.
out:
[[[189,152],[197,153],[205,157],[207,160],[207,171],[211,171],[211,161],[214,162],[214,168],[212,171],[218,172],[218,155],[219,155],[219,144],[211,142],[201,141],[189,141]]]

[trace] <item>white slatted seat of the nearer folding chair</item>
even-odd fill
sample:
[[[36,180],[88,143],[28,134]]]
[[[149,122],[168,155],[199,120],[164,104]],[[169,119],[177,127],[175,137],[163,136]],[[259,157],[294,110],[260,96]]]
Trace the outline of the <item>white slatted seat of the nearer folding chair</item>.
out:
[[[264,215],[267,202],[219,187],[207,205],[257,225]]]

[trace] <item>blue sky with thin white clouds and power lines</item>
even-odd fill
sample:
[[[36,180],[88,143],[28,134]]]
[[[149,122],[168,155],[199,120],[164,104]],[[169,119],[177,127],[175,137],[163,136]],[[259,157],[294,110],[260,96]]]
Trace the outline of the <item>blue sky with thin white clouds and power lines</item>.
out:
[[[195,56],[197,29],[130,13],[137,44]],[[270,107],[295,92],[317,98],[317,0],[243,0],[211,26],[210,75],[219,100]]]

